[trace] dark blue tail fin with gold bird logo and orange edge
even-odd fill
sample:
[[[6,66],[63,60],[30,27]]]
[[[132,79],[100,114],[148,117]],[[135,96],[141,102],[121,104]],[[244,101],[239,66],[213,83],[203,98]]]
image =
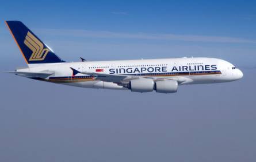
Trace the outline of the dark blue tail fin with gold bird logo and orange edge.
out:
[[[64,62],[20,21],[5,21],[26,64]]]

